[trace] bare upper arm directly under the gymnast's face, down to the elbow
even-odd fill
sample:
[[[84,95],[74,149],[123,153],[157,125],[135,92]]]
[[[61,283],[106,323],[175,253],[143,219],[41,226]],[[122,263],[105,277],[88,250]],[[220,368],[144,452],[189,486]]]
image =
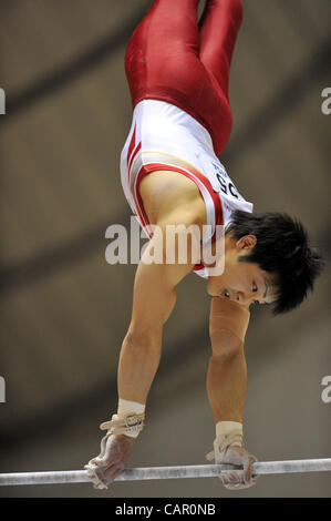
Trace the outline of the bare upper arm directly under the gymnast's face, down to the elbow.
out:
[[[209,335],[211,345],[234,338],[244,344],[249,323],[249,306],[226,298],[213,297],[210,304]]]

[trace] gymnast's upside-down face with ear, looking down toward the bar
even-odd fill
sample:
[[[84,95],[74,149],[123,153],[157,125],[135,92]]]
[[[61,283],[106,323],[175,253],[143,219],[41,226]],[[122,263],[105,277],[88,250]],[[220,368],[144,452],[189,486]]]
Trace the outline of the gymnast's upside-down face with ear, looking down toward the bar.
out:
[[[226,236],[225,270],[220,276],[208,278],[209,295],[228,298],[245,306],[272,303],[270,274],[257,264],[238,260],[240,256],[250,253],[256,242],[254,235],[246,235],[237,242]]]

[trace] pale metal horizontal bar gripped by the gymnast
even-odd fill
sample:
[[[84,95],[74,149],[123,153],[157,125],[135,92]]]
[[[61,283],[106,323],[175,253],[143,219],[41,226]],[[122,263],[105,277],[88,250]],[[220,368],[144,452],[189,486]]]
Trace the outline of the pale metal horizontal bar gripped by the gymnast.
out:
[[[291,472],[331,471],[331,458],[288,461],[257,461],[255,474],[283,474]],[[148,479],[216,478],[221,470],[234,470],[230,464],[193,464],[183,467],[151,467],[125,469],[115,481]],[[236,469],[236,472],[240,470]],[[13,484],[60,484],[84,483],[91,479],[86,470],[63,470],[54,472],[0,473],[0,486]]]

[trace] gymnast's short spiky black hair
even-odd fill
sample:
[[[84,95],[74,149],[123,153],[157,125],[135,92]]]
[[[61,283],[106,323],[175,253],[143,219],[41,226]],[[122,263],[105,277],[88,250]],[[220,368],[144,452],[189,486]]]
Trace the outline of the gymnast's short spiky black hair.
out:
[[[313,290],[324,263],[309,245],[307,231],[299,221],[277,212],[235,211],[227,233],[236,241],[245,235],[256,236],[256,246],[239,260],[258,264],[273,276],[275,315],[299,306],[308,290]]]

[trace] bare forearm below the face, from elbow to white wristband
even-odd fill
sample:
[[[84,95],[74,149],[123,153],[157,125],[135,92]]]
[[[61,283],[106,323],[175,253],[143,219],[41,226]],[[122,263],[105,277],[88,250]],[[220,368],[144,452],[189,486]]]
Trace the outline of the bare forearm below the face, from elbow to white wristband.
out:
[[[207,394],[215,423],[239,421],[242,423],[247,384],[244,349],[231,354],[213,354],[207,372]]]

